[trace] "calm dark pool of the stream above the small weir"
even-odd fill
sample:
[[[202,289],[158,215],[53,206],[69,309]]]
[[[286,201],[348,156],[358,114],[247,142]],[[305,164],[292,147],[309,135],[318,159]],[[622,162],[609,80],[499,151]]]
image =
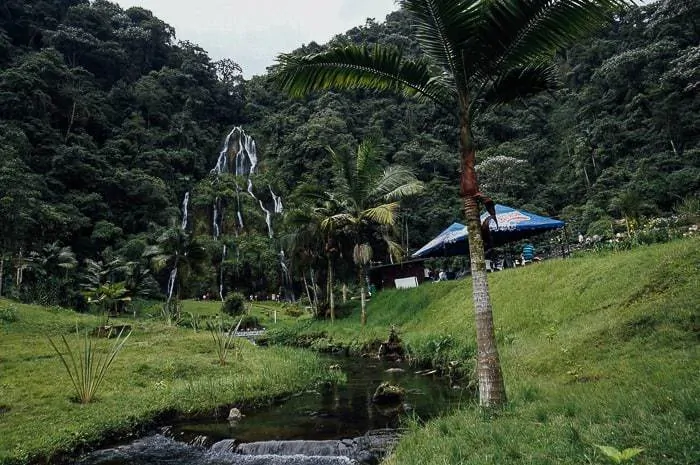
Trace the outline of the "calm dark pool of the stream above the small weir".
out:
[[[347,384],[294,395],[269,408],[243,408],[246,416],[238,423],[197,421],[175,425],[172,432],[184,441],[202,435],[213,441],[235,438],[240,442],[340,439],[374,429],[396,429],[407,415],[425,420],[470,400],[465,391],[452,389],[446,380],[418,375],[407,364],[356,358],[333,358],[328,364],[340,364],[347,374]],[[403,405],[378,406],[372,402],[374,390],[382,381],[406,390]]]

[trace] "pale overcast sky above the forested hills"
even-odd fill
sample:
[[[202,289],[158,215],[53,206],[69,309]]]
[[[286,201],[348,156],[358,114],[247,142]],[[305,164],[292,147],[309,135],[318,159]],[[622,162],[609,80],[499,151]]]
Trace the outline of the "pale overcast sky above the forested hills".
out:
[[[231,58],[250,78],[263,74],[279,53],[323,44],[334,35],[383,22],[394,0],[116,0],[140,6],[175,28],[177,40],[205,49],[213,60]]]

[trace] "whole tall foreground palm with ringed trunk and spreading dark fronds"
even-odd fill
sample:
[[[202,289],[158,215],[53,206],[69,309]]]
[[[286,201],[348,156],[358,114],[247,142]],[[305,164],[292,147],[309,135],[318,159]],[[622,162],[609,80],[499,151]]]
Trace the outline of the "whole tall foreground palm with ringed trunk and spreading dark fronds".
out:
[[[486,108],[552,88],[554,52],[593,32],[631,0],[400,0],[425,58],[388,46],[344,46],[280,55],[276,80],[290,94],[322,89],[391,90],[432,101],[455,117],[460,195],[469,231],[482,406],[506,401],[480,236],[483,199],[475,172],[474,118]]]

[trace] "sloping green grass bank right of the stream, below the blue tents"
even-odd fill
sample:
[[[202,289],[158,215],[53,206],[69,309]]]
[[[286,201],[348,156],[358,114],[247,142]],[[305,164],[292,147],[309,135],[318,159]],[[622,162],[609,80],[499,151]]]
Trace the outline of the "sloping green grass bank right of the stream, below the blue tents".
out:
[[[553,260],[489,276],[508,407],[415,421],[387,459],[419,464],[700,463],[700,242]],[[359,313],[278,340],[369,350],[396,325],[412,356],[472,369],[469,280],[379,293]]]

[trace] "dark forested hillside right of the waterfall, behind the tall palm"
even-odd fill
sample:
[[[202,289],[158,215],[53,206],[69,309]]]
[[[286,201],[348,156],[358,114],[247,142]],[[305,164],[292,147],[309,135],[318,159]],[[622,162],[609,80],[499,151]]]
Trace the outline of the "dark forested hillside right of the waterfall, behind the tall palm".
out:
[[[586,232],[604,217],[672,211],[700,188],[700,9],[659,2],[558,57],[561,90],[488,113],[477,123],[482,190],[574,222]],[[420,55],[403,12],[332,43],[387,43]],[[309,44],[299,53],[323,47]],[[273,70],[274,71],[274,70]],[[410,205],[411,245],[459,220],[457,131],[430,104],[364,92],[290,100],[266,77],[246,85],[246,114],[288,186],[330,180],[323,147],[382,137],[387,163],[415,167],[428,192]]]

